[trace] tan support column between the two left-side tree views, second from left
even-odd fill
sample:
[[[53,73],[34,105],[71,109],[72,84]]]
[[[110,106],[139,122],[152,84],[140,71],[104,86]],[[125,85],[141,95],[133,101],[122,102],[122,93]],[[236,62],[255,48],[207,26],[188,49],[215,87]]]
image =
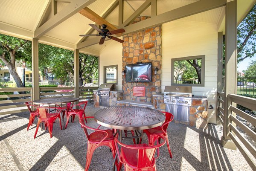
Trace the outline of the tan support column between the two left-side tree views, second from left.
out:
[[[79,98],[79,49],[75,49],[74,53],[74,96]]]

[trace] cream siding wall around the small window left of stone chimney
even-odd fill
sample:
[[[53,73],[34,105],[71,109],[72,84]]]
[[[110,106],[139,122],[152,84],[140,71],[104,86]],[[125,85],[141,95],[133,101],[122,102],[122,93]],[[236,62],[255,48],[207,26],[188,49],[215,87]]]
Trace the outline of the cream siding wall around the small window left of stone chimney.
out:
[[[103,67],[118,65],[116,89],[122,90],[122,43],[110,41],[99,53],[99,84],[104,82]]]

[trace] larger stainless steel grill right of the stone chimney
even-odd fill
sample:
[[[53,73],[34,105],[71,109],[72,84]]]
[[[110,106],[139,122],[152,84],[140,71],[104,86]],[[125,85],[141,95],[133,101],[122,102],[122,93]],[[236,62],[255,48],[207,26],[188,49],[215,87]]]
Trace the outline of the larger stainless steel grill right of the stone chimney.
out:
[[[177,121],[189,122],[189,109],[192,103],[192,86],[166,86],[164,90],[166,111]]]

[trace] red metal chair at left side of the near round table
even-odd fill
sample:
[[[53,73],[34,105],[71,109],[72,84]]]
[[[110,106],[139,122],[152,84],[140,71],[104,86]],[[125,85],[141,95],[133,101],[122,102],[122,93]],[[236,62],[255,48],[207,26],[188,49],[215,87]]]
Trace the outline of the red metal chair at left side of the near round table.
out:
[[[113,154],[113,158],[116,156],[116,146],[115,146],[115,141],[114,141],[114,136],[112,133],[112,130],[100,130],[99,125],[98,128],[91,128],[87,125],[84,124],[84,120],[87,123],[87,119],[93,119],[93,116],[87,116],[83,117],[79,120],[82,128],[84,129],[84,133],[88,139],[87,143],[87,154],[86,154],[86,165],[85,165],[85,171],[88,171],[90,167],[90,162],[93,157],[93,152],[98,148],[99,146],[105,145],[108,146]],[[87,129],[93,130],[94,132],[89,134]],[[118,162],[116,160],[116,167],[118,167]]]

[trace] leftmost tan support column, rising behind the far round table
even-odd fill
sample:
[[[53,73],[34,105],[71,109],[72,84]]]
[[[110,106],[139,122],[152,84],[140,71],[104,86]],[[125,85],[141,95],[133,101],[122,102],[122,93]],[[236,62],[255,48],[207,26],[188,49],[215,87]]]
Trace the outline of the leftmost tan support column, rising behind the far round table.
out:
[[[39,99],[38,39],[32,38],[32,101]]]

